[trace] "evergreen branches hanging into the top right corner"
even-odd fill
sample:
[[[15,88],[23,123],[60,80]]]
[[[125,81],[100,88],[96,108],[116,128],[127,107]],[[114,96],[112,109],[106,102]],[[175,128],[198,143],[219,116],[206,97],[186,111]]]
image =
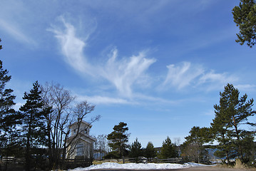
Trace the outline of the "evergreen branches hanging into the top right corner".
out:
[[[256,3],[255,0],[241,0],[239,6],[232,9],[235,24],[239,26],[236,42],[254,46],[256,41]]]

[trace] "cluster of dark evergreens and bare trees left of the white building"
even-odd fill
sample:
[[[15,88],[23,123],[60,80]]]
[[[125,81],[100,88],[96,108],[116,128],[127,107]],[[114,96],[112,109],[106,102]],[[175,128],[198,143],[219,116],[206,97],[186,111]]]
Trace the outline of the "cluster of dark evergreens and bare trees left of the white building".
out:
[[[77,122],[79,127],[95,105],[87,101],[77,103],[70,91],[59,84],[46,83],[40,86],[36,81],[31,90],[24,93],[24,105],[16,111],[16,96],[13,95],[13,90],[5,88],[10,80],[11,76],[0,61],[1,157],[14,156],[21,159],[20,162],[24,162],[28,171],[36,167],[42,170],[65,168],[66,155],[71,155],[68,149],[76,145],[79,133],[84,131],[77,131],[76,135],[68,138],[71,131],[69,125]],[[91,118],[89,123],[98,118],[100,116]],[[7,164],[6,160],[4,170],[7,170]]]

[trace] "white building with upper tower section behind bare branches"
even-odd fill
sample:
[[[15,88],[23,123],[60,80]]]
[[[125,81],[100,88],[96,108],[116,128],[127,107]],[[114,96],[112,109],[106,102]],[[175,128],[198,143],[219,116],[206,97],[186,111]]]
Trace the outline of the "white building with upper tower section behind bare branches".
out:
[[[67,149],[67,158],[93,157],[93,142],[95,142],[96,139],[89,135],[91,127],[91,124],[83,120],[70,125],[71,136],[68,137],[67,143],[72,142]]]

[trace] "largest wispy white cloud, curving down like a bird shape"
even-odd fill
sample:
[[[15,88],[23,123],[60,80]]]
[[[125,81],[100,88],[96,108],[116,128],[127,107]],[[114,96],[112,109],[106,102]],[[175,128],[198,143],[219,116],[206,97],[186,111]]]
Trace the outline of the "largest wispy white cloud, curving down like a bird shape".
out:
[[[48,29],[55,34],[61,44],[61,52],[66,57],[66,62],[81,74],[101,76],[116,86],[121,95],[132,95],[132,86],[142,79],[145,71],[155,62],[153,58],[145,58],[145,52],[138,56],[122,58],[118,60],[118,50],[113,49],[106,63],[90,63],[88,57],[83,54],[86,41],[82,41],[76,35],[76,28],[60,17],[64,29],[61,26],[52,26]],[[87,36],[88,37],[88,36]]]

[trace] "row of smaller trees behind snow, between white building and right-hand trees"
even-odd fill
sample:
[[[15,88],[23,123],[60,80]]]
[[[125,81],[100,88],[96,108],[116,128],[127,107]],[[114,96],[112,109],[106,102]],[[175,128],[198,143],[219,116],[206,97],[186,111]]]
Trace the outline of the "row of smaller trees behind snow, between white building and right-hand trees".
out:
[[[173,143],[169,137],[163,141],[162,147],[156,149],[152,142],[143,148],[138,138],[128,144],[128,127],[127,123],[120,122],[113,127],[113,132],[108,135],[99,135],[96,141],[96,152],[100,153],[102,159],[121,159],[123,157],[132,157],[138,161],[138,157],[158,157],[171,158],[178,157],[178,146]]]

